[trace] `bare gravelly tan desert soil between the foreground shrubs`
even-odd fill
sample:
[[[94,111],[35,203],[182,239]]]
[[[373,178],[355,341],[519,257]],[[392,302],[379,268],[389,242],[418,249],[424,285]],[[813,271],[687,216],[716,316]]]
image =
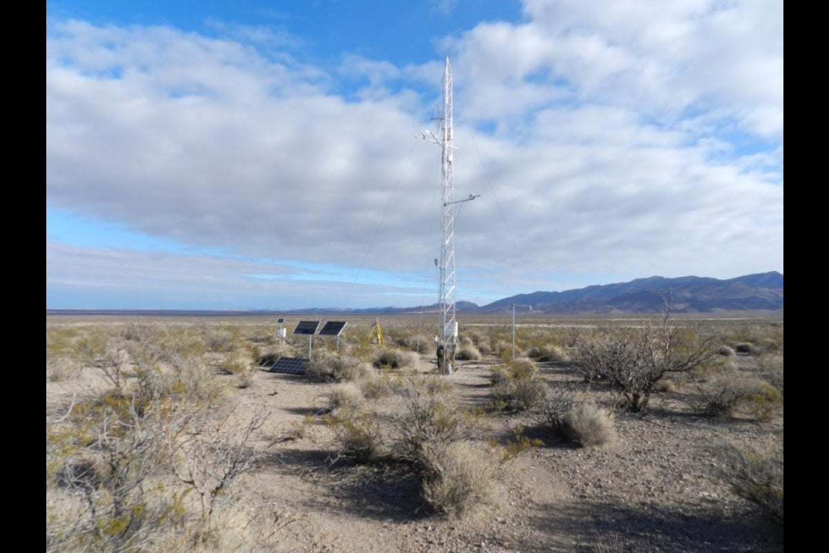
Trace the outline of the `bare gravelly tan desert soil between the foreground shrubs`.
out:
[[[419,357],[414,370],[434,373],[431,357]],[[565,367],[542,371],[550,382],[579,378]],[[459,361],[453,375],[431,377],[452,382],[464,403],[484,405],[489,374],[485,364]],[[73,386],[81,384],[47,382],[47,409]],[[618,411],[615,443],[585,449],[541,432],[531,415],[495,415],[487,419],[493,439],[523,426],[544,445],[502,463],[492,501],[452,519],[429,512],[404,467],[332,466],[336,445],[321,417],[303,433],[292,431],[327,408],[332,386],[259,371],[253,386],[240,390],[244,405],[264,404],[271,413],[258,443],[288,438],[234,483],[244,492],[235,497],[267,506],[261,508],[276,521],[273,551],[783,551],[782,530],[716,477],[718,444],[762,443],[782,420],[701,417],[662,394],[647,415]],[[591,393],[607,400],[605,390]]]

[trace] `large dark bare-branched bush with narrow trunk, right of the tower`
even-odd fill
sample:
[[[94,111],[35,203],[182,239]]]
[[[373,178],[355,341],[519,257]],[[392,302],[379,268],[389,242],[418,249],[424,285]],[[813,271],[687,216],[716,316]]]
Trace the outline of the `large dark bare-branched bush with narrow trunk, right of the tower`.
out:
[[[658,326],[613,328],[589,337],[576,348],[574,366],[588,381],[607,380],[629,410],[645,410],[663,376],[693,371],[715,357],[714,337],[667,321],[666,312]]]

